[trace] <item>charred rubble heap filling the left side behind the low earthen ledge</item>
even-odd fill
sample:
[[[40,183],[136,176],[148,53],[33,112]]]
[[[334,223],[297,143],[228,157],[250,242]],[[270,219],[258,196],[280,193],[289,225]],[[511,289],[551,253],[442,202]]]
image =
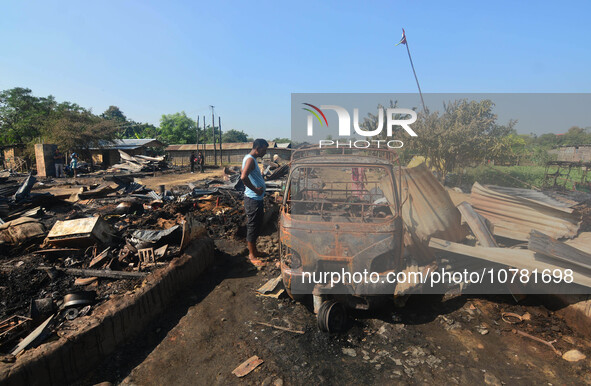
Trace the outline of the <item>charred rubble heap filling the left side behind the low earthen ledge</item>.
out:
[[[139,162],[142,170],[162,166],[160,159],[150,157],[126,162]],[[11,182],[11,177],[0,185],[0,213],[7,219],[0,225],[0,275],[6,277],[0,288],[6,299],[0,302],[0,318],[5,320],[0,325],[1,353],[9,354],[15,342],[35,328],[40,330],[18,350],[40,343],[35,335],[59,332],[64,322],[92,313],[79,304],[74,309],[61,307],[51,320],[49,315],[40,319],[37,311],[42,303],[63,306],[62,296],[89,289],[102,303],[113,294],[133,290],[196,238],[245,234],[241,193],[232,182],[209,180],[193,189],[176,187],[158,194],[133,178],[131,174],[106,176],[110,183],[85,184],[62,199],[38,193],[27,197],[34,177],[22,183]],[[46,182],[43,188],[56,183],[67,184]],[[19,187],[24,187],[23,194],[16,202]],[[9,251],[13,251],[10,256]],[[3,334],[8,329],[11,334]]]

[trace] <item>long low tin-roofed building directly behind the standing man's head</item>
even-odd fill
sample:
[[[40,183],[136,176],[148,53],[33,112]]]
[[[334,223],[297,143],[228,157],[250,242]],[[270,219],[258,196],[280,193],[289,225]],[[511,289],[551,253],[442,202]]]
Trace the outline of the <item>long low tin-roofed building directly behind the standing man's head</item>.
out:
[[[205,149],[204,149],[205,147]],[[203,152],[205,163],[214,164],[213,144],[200,144],[199,150]],[[240,164],[244,156],[252,150],[252,142],[235,142],[222,144],[222,164]],[[176,166],[189,165],[189,157],[192,152],[197,152],[196,144],[170,145],[165,149],[168,154],[169,162]],[[219,144],[216,144],[216,152],[219,157]],[[278,154],[281,158],[289,160],[291,158],[291,144],[278,144],[269,142],[269,150],[265,159],[272,159],[273,155]]]

